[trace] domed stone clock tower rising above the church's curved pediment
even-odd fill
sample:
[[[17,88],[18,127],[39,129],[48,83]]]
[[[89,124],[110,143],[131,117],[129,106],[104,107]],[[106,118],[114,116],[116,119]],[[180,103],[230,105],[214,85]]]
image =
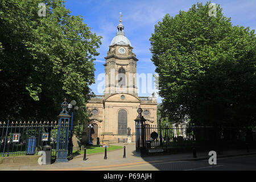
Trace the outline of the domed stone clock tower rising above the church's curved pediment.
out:
[[[117,33],[109,46],[105,57],[105,90],[106,97],[115,93],[130,93],[138,96],[136,65],[138,59],[133,47],[123,31],[122,20],[117,26]]]

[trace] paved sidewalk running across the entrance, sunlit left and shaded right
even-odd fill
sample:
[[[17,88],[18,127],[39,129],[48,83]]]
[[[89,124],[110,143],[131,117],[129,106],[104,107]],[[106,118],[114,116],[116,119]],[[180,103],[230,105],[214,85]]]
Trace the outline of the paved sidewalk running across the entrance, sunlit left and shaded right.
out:
[[[48,171],[48,170],[102,170],[110,167],[135,166],[147,163],[159,163],[169,161],[184,161],[184,160],[203,160],[209,159],[208,152],[197,152],[197,158],[193,158],[192,152],[187,154],[171,154],[139,157],[134,155],[135,144],[113,144],[126,146],[126,158],[123,158],[123,150],[109,151],[108,159],[104,159],[104,154],[86,155],[87,160],[83,160],[83,155],[76,156],[68,163],[53,163],[51,165],[6,165],[0,166],[1,171],[9,170],[24,170],[24,171]],[[251,150],[249,153],[246,150],[224,151],[224,155],[217,155],[217,158],[236,155],[251,155],[256,154],[256,150]],[[143,170],[143,169],[142,169]]]

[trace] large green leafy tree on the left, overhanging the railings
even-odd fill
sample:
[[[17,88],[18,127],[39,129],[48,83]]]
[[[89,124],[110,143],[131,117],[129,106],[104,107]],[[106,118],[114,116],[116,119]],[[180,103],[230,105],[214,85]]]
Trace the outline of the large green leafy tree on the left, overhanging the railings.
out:
[[[65,97],[84,121],[101,36],[70,13],[61,0],[0,1],[1,120],[55,120]]]

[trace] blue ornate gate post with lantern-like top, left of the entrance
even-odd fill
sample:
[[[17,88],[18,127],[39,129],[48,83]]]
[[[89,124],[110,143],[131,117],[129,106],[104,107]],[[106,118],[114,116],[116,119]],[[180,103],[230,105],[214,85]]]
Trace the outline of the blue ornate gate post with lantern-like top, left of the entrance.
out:
[[[68,103],[66,99],[61,104],[62,111],[58,118],[58,131],[57,131],[57,146],[56,146],[56,163],[68,162],[68,132],[69,132],[69,118],[67,108]]]

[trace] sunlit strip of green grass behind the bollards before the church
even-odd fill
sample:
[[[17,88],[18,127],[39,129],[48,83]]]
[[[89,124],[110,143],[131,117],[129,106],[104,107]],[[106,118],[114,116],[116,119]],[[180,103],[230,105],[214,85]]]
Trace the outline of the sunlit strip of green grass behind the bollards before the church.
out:
[[[109,146],[107,151],[117,150],[119,148],[123,148],[122,146]],[[104,152],[105,148],[100,146],[86,146],[86,154],[97,154]],[[84,154],[84,150],[73,150],[73,156]]]

